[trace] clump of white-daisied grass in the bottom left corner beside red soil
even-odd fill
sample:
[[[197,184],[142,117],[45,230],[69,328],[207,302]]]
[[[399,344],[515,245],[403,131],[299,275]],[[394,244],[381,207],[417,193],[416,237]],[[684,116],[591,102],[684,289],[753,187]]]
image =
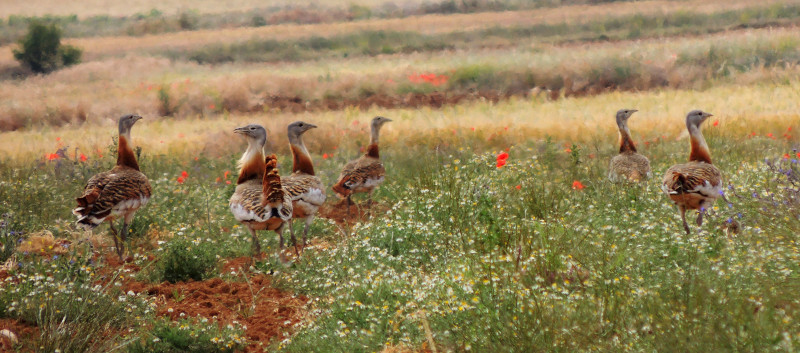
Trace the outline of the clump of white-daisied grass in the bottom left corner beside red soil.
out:
[[[141,296],[120,289],[120,273],[98,275],[80,245],[71,247],[62,257],[21,257],[0,286],[0,317],[36,325],[40,334],[28,344],[42,351],[112,350],[122,329],[152,310]]]

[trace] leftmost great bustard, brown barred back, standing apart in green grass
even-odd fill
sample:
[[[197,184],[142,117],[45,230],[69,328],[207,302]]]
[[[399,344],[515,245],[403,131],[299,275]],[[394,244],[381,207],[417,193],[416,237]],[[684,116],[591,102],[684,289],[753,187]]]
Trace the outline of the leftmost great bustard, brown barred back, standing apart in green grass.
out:
[[[125,253],[128,226],[136,210],[150,200],[152,192],[147,176],[139,171],[139,163],[130,144],[131,128],[141,118],[133,114],[119,118],[117,165],[91,177],[83,189],[83,195],[75,199],[78,207],[72,210],[78,217],[78,225],[86,229],[93,229],[104,221],[109,222],[120,260]],[[122,218],[121,234],[114,228],[116,218]]]

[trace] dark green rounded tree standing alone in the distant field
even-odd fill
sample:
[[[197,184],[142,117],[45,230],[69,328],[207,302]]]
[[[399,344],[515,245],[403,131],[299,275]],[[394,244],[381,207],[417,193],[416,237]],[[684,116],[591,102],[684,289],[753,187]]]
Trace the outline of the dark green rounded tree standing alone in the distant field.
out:
[[[61,45],[61,30],[55,24],[31,22],[28,34],[19,40],[14,58],[33,72],[47,73],[81,61],[83,51],[71,45]]]

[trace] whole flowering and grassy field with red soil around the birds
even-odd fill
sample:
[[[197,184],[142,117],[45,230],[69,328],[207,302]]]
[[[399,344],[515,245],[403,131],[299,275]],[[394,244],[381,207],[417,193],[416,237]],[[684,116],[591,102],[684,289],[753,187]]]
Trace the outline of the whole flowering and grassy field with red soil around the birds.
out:
[[[2,351],[800,350],[800,3],[79,3],[0,12]],[[83,62],[21,68],[28,16]],[[621,108],[639,184],[607,179]],[[724,198],[687,235],[661,177],[692,109]],[[153,196],[120,262],[71,210],[127,113]],[[376,115],[386,182],[348,212]],[[233,129],[285,176],[297,120],[328,200],[282,264],[229,209]]]

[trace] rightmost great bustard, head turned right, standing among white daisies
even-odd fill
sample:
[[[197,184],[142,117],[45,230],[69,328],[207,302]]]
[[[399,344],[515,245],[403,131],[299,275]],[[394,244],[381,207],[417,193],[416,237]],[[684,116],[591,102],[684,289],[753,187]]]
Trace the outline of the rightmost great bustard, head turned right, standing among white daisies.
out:
[[[667,169],[661,184],[664,193],[678,206],[686,234],[689,234],[686,210],[698,210],[697,225],[700,226],[703,224],[703,214],[722,195],[722,173],[711,164],[711,152],[700,132],[700,124],[710,116],[700,110],[693,110],[686,116],[692,148],[689,162]]]

